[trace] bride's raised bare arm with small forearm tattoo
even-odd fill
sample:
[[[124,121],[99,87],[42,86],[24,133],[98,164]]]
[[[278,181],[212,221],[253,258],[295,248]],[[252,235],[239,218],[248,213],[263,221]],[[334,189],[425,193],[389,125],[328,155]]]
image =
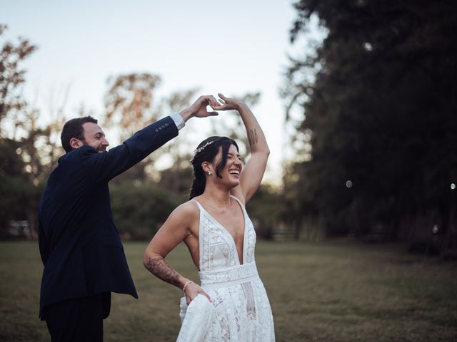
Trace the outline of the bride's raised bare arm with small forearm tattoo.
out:
[[[221,93],[218,95],[219,98],[222,99],[222,105],[215,107],[214,109],[237,110],[241,116],[241,120],[243,120],[246,134],[248,135],[251,157],[241,171],[240,185],[231,190],[232,195],[238,197],[246,204],[261,183],[270,150],[256,117],[246,103],[235,98],[226,98]]]

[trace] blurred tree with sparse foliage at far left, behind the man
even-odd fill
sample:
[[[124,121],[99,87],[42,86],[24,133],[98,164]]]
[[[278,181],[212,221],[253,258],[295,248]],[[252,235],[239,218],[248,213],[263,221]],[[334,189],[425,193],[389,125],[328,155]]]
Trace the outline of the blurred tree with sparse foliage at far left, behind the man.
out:
[[[0,36],[6,30],[0,25]],[[36,234],[36,208],[43,181],[54,166],[59,147],[57,124],[39,127],[40,112],[32,108],[21,90],[26,71],[22,63],[36,46],[24,38],[3,43],[0,58],[0,235],[8,235],[11,220],[26,220],[29,235]],[[8,128],[8,129],[6,129]]]

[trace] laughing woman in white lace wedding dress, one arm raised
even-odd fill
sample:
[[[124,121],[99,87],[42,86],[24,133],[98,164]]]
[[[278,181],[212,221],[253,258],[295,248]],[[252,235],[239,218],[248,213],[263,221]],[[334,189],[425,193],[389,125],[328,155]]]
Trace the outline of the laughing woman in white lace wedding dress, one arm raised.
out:
[[[243,167],[238,145],[226,137],[199,144],[192,160],[190,200],[170,214],[151,240],[144,266],[184,291],[179,341],[274,341],[273,316],[254,261],[256,232],[245,209],[265,172],[268,145],[246,104],[219,97],[213,109],[238,111],[251,157]],[[183,240],[201,286],[164,259]]]

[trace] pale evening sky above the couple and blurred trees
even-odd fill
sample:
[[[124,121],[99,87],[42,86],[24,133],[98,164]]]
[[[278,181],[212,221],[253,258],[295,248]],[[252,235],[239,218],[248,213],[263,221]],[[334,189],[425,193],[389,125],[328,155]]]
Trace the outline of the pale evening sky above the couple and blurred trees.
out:
[[[120,73],[161,76],[159,95],[196,87],[201,94],[227,96],[260,91],[253,112],[271,149],[266,180],[277,182],[287,144],[278,93],[287,54],[296,49],[288,35],[296,17],[292,4],[0,0],[0,23],[9,26],[8,40],[23,36],[39,46],[24,63],[25,94],[44,114],[69,86],[66,117],[77,116],[81,104],[101,117],[106,79]],[[195,133],[199,142],[206,138],[205,125],[220,119],[192,119],[180,135]]]

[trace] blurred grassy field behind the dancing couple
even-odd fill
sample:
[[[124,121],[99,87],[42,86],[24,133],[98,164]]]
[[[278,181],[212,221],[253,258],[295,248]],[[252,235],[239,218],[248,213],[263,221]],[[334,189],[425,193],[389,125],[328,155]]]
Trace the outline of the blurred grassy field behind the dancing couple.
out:
[[[179,289],[141,264],[147,242],[124,244],[140,299],[114,294],[105,341],[175,341]],[[180,245],[169,262],[198,279]],[[457,265],[394,246],[258,242],[256,260],[276,341],[457,341]],[[36,242],[0,243],[0,341],[49,341],[38,319]]]

